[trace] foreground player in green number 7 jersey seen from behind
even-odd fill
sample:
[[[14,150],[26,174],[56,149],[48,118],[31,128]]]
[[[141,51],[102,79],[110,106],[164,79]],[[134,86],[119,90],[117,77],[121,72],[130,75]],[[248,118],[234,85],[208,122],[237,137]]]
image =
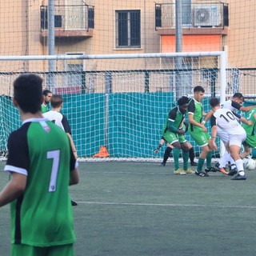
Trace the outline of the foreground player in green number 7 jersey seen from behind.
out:
[[[10,202],[11,255],[74,255],[74,220],[68,186],[79,181],[66,133],[42,117],[42,78],[14,81],[14,106],[22,126],[8,138],[4,170],[10,182],[0,206]]]

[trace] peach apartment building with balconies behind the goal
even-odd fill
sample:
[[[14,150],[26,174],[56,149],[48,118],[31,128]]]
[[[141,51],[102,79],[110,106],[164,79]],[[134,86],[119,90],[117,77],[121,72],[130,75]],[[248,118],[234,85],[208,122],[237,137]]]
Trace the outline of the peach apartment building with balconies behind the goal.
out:
[[[59,0],[2,3],[0,55],[143,54],[171,53],[176,45],[175,0]],[[50,41],[49,9],[54,10],[54,40]],[[228,66],[254,68],[254,17],[256,4],[182,0],[183,52],[226,50]],[[249,15],[248,15],[249,14]],[[51,24],[53,19],[51,19]],[[52,35],[52,34],[51,34]],[[138,62],[137,64],[134,64]],[[211,62],[204,62],[210,67]],[[1,65],[1,63],[0,63]],[[158,65],[158,63],[156,63]],[[193,59],[186,68],[194,68]],[[208,65],[208,66],[207,66]],[[109,70],[146,68],[137,60],[121,66],[114,62],[57,62],[55,70]],[[4,71],[49,71],[48,61],[17,61]],[[73,80],[73,76],[70,76]]]

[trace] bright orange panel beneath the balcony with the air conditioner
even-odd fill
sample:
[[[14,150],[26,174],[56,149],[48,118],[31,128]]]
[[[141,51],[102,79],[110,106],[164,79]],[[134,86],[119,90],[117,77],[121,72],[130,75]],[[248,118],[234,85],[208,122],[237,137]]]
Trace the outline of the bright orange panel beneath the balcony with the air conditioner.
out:
[[[161,52],[173,53],[176,51],[175,35],[162,35]],[[190,51],[219,51],[221,47],[221,35],[183,35],[182,52]]]

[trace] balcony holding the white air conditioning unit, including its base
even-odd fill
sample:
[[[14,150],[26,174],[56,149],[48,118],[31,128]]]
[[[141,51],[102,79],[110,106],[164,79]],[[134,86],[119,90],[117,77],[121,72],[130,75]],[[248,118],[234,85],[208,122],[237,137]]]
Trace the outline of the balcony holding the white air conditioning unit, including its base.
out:
[[[226,35],[228,5],[223,2],[182,4],[182,34]],[[155,4],[155,29],[158,34],[175,34],[175,4]]]

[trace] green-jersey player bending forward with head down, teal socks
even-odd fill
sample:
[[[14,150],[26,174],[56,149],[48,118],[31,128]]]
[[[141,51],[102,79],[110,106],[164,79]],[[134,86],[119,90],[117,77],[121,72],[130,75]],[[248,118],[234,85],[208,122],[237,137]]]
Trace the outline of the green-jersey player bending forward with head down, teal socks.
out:
[[[193,173],[192,170],[188,169],[189,147],[184,136],[185,130],[182,129],[188,102],[189,98],[185,96],[178,99],[178,106],[170,110],[162,130],[162,136],[167,142],[166,150],[171,150],[172,147],[174,147],[174,174]],[[179,168],[178,162],[181,149],[183,158],[183,170]]]

